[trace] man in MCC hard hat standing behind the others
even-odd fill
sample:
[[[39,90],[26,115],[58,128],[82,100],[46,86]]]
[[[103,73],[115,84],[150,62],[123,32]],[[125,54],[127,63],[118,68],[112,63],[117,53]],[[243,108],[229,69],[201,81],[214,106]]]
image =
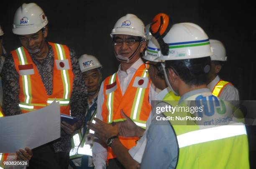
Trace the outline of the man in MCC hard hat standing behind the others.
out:
[[[72,149],[69,153],[70,168],[72,169],[93,169],[92,144],[93,136],[86,127],[87,122],[92,121],[97,110],[97,96],[102,81],[102,65],[99,60],[92,55],[82,55],[79,57],[79,66],[84,78],[88,92],[88,108],[85,113],[84,124],[77,130],[72,138]],[[82,136],[82,137],[79,137]]]

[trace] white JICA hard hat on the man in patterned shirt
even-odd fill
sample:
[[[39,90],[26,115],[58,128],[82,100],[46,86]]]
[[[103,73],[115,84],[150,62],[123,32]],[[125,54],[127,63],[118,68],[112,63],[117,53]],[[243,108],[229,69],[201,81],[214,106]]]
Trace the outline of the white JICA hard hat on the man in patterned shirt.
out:
[[[23,3],[15,12],[13,33],[16,35],[33,34],[48,23],[44,11],[36,3]]]

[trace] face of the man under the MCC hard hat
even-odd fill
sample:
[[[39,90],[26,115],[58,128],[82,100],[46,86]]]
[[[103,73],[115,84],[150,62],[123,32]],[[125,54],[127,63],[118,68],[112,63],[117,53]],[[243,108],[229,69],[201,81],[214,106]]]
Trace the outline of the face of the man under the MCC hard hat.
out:
[[[97,69],[83,72],[83,78],[88,92],[95,92],[100,87],[100,71]]]

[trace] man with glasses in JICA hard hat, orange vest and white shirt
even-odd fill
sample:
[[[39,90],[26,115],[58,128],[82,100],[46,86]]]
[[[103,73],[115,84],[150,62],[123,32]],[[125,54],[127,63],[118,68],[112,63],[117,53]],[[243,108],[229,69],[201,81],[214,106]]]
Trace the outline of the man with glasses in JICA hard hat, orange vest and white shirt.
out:
[[[123,121],[120,110],[130,117],[139,127],[146,128],[151,111],[150,100],[156,92],[148,78],[148,70],[140,55],[146,47],[145,26],[133,14],[121,17],[110,34],[114,53],[120,62],[118,71],[107,77],[101,84],[98,95],[97,118],[106,123]],[[119,137],[127,148],[136,145],[138,137]],[[113,138],[108,139],[109,142]],[[103,145],[104,146],[104,145]],[[99,143],[92,148],[95,169],[123,168],[112,149]]]

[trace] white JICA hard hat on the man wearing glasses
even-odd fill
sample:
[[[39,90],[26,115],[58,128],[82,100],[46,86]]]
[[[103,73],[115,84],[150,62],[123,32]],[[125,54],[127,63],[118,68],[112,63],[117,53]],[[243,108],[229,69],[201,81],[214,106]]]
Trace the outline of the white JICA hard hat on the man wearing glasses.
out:
[[[110,34],[113,35],[133,35],[146,38],[145,36],[145,25],[143,22],[133,14],[127,14],[121,17],[116,23]]]

